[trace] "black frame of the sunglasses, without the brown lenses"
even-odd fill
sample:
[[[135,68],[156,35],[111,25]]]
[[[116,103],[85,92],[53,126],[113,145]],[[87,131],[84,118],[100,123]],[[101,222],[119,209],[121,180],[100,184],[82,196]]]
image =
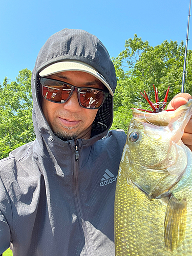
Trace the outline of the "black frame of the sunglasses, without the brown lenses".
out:
[[[69,97],[67,98],[67,100],[66,100],[65,102],[54,102],[54,101],[52,101],[52,100],[50,100],[50,99],[45,98],[43,91],[44,91],[44,83],[45,83],[46,80],[50,80],[50,81],[55,81],[55,82],[67,84],[68,86],[71,87],[71,93],[69,94]],[[44,97],[44,99],[46,99],[46,100],[48,100],[48,101],[50,101],[50,102],[52,102],[52,103],[63,104],[63,103],[66,103],[66,102],[71,98],[73,92],[77,92],[77,98],[78,98],[79,105],[81,106],[81,108],[83,108],[83,109],[88,109],[88,110],[97,110],[97,109],[100,109],[101,106],[102,106],[102,104],[104,103],[106,97],[108,97],[108,95],[109,95],[108,89],[102,90],[102,89],[100,89],[100,88],[94,88],[94,87],[76,87],[76,86],[73,86],[73,85],[70,84],[70,83],[63,82],[63,81],[59,81],[59,80],[55,80],[55,79],[51,79],[51,78],[40,77],[40,84],[41,84],[41,95],[42,95],[42,97]],[[81,89],[95,89],[95,90],[97,90],[97,91],[101,91],[102,93],[104,93],[104,99],[103,99],[102,104],[101,104],[98,108],[86,108],[86,106],[83,106],[83,105],[81,104],[81,102],[80,102],[80,93],[79,93],[79,92],[80,92]]]

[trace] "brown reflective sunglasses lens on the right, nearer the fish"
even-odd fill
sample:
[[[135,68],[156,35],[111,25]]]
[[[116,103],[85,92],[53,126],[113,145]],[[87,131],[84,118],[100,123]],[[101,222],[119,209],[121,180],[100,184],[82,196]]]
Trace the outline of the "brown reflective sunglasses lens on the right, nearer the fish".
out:
[[[80,103],[84,108],[95,109],[103,103],[104,92],[97,89],[81,89],[80,90]]]

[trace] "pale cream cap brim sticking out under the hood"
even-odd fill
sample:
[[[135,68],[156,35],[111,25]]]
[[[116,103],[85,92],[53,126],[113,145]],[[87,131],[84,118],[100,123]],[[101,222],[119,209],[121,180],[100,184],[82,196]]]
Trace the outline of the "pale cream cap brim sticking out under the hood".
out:
[[[104,79],[104,77],[101,74],[99,74],[92,66],[81,61],[71,60],[71,61],[61,61],[61,62],[54,63],[48,66],[47,68],[45,68],[44,70],[42,70],[39,73],[39,76],[44,77],[44,76],[53,75],[59,72],[65,72],[65,71],[82,71],[95,76],[106,86],[106,88],[108,88],[110,94],[114,96],[114,93],[109,83]]]

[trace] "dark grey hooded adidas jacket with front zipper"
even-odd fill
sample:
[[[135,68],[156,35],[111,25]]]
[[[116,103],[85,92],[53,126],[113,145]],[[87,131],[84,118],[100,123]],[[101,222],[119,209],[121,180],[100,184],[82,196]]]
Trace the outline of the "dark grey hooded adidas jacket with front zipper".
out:
[[[110,256],[114,198],[126,135],[110,131],[113,97],[98,110],[88,140],[62,141],[42,113],[38,74],[52,63],[79,60],[116,87],[115,69],[97,37],[64,29],[41,48],[32,73],[35,141],[0,161],[0,254]]]

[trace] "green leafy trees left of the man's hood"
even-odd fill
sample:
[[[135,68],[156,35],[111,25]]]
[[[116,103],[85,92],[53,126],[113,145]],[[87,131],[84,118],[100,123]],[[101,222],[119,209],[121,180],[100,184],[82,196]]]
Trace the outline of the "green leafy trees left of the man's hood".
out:
[[[19,71],[16,81],[0,84],[0,159],[16,147],[34,140],[31,71]]]

